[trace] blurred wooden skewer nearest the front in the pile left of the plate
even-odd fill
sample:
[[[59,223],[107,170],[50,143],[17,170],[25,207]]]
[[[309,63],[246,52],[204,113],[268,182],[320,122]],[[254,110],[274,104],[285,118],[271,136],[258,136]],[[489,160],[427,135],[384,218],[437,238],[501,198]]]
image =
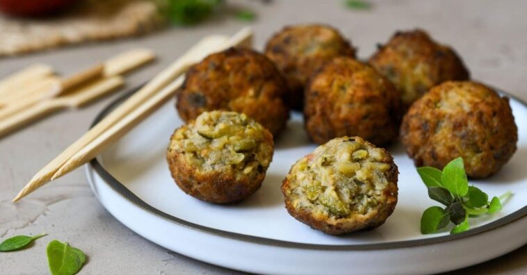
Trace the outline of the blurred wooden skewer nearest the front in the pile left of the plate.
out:
[[[26,109],[16,115],[12,115],[0,122],[0,136],[10,133],[15,128],[19,128],[29,122],[35,121],[62,108],[76,108],[86,104],[94,99],[102,97],[108,92],[119,88],[123,85],[124,80],[121,76],[111,78],[102,78],[86,85],[83,85],[70,94],[55,99],[48,99],[37,103],[33,108]]]

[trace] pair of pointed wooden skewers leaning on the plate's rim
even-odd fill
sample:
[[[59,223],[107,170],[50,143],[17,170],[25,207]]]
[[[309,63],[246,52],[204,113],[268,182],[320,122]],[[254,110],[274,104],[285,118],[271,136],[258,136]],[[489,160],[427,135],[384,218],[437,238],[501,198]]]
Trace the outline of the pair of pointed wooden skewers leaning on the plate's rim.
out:
[[[17,194],[13,202],[19,201],[40,186],[63,176],[77,167],[88,163],[102,153],[108,145],[122,138],[124,134],[152,114],[163,103],[172,99],[175,90],[184,82],[184,73],[195,63],[211,53],[229,47],[251,47],[252,30],[243,28],[232,37],[211,35],[203,38],[183,56],[175,60],[127,101],[115,108],[90,131],[74,142],[63,153],[51,160]]]

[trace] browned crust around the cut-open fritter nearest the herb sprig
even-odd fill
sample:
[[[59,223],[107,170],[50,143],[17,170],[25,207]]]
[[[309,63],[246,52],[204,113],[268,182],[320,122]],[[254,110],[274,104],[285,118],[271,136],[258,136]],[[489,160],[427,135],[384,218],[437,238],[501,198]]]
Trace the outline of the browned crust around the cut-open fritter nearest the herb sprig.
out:
[[[366,142],[361,138],[355,137],[355,139],[361,140],[370,146],[374,146],[373,144]],[[289,171],[288,176],[286,176],[282,182],[282,194],[284,194],[284,201],[289,215],[298,221],[307,224],[313,229],[331,235],[341,235],[354,231],[368,231],[384,224],[386,219],[391,215],[391,213],[394,212],[398,201],[398,168],[397,165],[395,165],[394,158],[391,156],[391,154],[385,149],[382,149],[382,152],[383,156],[386,156],[383,161],[390,163],[390,168],[386,173],[386,178],[389,182],[389,185],[387,185],[387,188],[383,192],[384,198],[379,208],[372,210],[367,215],[352,215],[352,217],[345,218],[334,218],[328,217],[327,215],[314,215],[314,213],[311,213],[308,208],[295,208],[293,201],[289,196],[289,194],[291,194],[291,178],[293,178],[291,177],[291,173],[293,172],[293,165]],[[312,154],[309,154],[304,158],[311,157]],[[298,162],[300,162],[300,160]]]

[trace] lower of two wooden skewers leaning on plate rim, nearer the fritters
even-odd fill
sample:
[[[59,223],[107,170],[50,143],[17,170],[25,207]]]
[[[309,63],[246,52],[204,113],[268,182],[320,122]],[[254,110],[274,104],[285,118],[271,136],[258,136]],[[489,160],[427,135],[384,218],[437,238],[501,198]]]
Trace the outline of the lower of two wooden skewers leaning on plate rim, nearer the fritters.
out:
[[[247,45],[251,42],[251,38],[252,33],[250,32],[244,31],[238,33],[238,35],[234,35],[232,39],[226,41],[222,45],[222,49],[240,44]],[[145,117],[157,110],[159,106],[171,99],[174,96],[175,90],[177,90],[183,82],[184,76],[180,76],[176,81],[170,83],[170,85],[155,94],[154,97],[145,101],[145,103],[139,106],[136,110],[133,110],[119,122],[111,126],[111,128],[108,128],[108,130],[104,131],[104,133],[99,135],[95,140],[67,160],[67,162],[51,177],[51,181],[73,171],[77,167],[88,163],[90,160],[98,156],[99,153],[104,151],[109,144],[113,144],[115,140],[122,138],[122,136],[128,133],[131,128],[139,124],[145,119]]]

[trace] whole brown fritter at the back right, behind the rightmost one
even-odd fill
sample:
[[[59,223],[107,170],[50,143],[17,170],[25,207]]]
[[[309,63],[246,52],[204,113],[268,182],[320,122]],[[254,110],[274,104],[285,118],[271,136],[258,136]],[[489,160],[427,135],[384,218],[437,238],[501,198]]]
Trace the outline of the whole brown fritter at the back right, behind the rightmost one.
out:
[[[469,79],[469,71],[453,49],[432,40],[428,33],[398,31],[369,60],[400,91],[405,108],[444,81]]]

